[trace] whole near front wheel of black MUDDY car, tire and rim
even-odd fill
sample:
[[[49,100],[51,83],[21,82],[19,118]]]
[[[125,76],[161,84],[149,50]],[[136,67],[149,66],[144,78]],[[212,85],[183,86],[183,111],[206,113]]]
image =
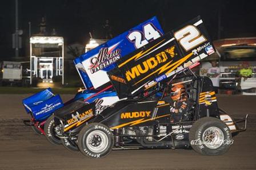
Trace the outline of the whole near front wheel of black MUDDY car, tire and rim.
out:
[[[113,145],[113,133],[101,123],[88,124],[79,132],[78,147],[88,157],[104,157],[111,152]]]

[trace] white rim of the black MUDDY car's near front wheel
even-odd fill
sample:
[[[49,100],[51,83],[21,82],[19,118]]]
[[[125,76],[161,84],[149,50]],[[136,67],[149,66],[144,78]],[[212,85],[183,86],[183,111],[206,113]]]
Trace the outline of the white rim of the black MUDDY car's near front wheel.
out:
[[[90,132],[86,137],[86,146],[91,152],[99,153],[105,151],[107,145],[109,144],[109,139],[106,133],[102,131]]]

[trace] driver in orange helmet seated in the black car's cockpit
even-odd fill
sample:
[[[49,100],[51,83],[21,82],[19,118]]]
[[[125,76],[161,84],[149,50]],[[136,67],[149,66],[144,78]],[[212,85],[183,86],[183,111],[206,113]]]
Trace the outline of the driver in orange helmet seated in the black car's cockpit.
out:
[[[177,84],[171,88],[171,122],[188,121],[191,119],[189,111],[193,102],[189,100],[183,84]]]

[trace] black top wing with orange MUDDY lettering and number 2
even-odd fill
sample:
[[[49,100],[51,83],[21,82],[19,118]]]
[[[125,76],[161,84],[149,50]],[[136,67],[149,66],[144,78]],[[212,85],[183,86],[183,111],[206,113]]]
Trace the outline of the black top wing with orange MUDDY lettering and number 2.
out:
[[[107,72],[119,98],[137,95],[213,54],[202,19],[197,17],[118,60]]]

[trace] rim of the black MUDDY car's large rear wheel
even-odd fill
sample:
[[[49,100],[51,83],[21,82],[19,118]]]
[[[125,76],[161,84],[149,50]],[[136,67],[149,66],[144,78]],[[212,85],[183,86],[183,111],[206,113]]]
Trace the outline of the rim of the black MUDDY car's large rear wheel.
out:
[[[209,127],[203,132],[203,144],[207,148],[210,149],[217,149],[221,147],[223,140],[224,140],[224,134],[222,130],[218,127]]]

